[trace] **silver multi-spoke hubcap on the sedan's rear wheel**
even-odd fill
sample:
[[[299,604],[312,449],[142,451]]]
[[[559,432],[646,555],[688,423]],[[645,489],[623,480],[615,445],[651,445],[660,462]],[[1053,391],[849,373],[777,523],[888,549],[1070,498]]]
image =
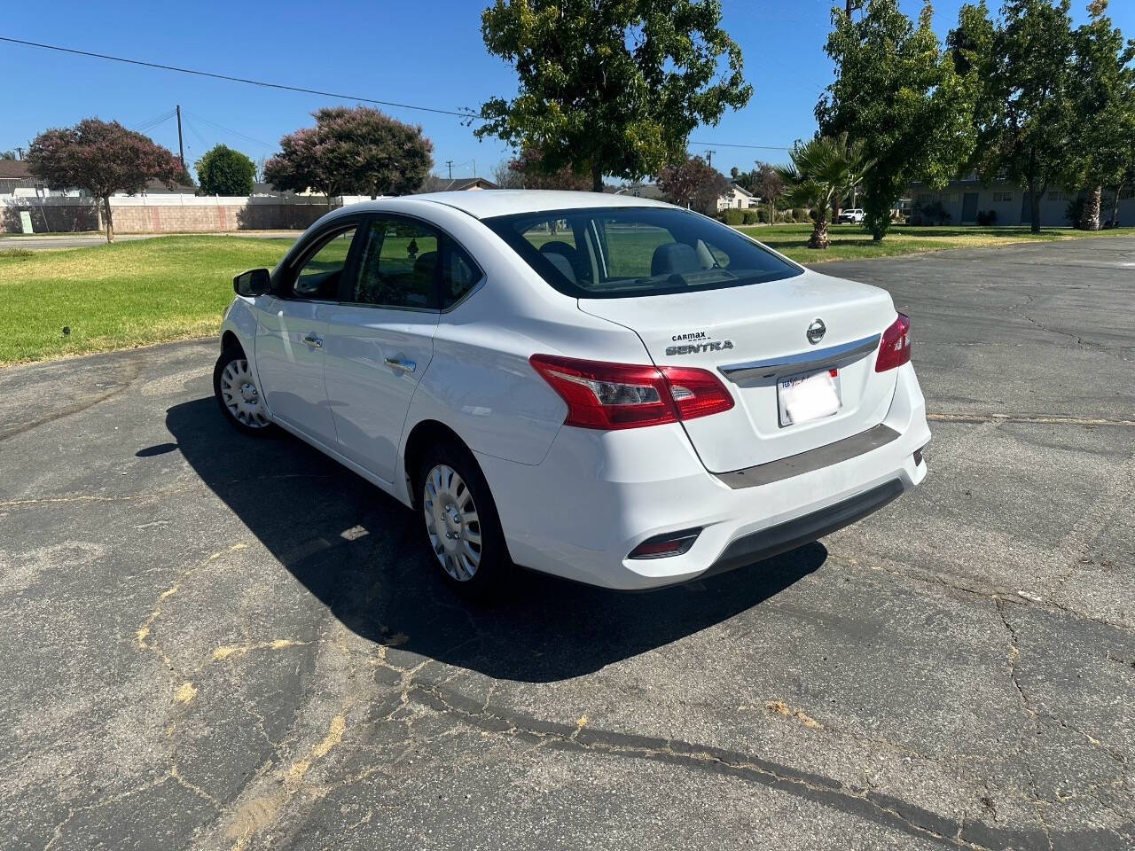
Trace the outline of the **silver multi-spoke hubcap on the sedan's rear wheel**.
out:
[[[442,567],[459,582],[468,582],[481,563],[481,522],[473,495],[457,471],[438,464],[422,488],[426,531]]]

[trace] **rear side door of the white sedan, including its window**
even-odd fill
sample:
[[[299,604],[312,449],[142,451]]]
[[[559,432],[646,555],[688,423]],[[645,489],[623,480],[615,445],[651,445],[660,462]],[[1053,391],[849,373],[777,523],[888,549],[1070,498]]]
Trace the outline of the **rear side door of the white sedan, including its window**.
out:
[[[426,222],[376,216],[360,237],[358,271],[328,314],[325,378],[339,452],[384,481],[394,481],[410,401],[434,357],[452,269],[471,266],[456,251]]]

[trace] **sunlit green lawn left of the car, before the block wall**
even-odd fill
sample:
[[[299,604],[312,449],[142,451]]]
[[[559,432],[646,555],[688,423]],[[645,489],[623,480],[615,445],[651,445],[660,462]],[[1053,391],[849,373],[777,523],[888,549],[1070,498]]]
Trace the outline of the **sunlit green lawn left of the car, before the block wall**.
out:
[[[0,364],[216,334],[233,276],[276,266],[292,242],[170,236],[0,247]]]

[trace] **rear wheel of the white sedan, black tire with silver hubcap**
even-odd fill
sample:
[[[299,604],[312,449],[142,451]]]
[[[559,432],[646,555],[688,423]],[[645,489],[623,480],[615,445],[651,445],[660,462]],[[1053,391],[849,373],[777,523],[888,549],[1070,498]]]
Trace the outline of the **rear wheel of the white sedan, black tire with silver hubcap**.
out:
[[[446,583],[474,596],[497,587],[512,562],[496,503],[472,453],[455,443],[430,447],[414,488],[426,545]]]

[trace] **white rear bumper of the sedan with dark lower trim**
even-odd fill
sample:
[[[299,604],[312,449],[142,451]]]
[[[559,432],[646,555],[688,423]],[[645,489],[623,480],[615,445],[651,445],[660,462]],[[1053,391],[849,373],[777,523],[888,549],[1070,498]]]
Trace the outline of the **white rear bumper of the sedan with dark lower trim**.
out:
[[[607,588],[647,589],[807,544],[918,485],[926,464],[914,453],[931,435],[909,364],[899,370],[883,426],[889,433],[850,439],[854,453],[824,447],[826,456],[817,450],[823,464],[777,462],[740,471],[759,471],[746,481],[707,472],[678,423],[612,432],[564,428],[540,464],[478,461],[519,564]],[[648,538],[693,528],[700,534],[682,555],[627,557]]]

